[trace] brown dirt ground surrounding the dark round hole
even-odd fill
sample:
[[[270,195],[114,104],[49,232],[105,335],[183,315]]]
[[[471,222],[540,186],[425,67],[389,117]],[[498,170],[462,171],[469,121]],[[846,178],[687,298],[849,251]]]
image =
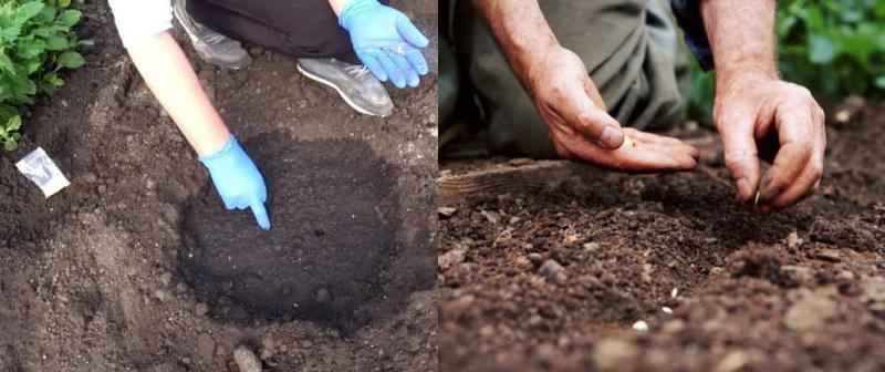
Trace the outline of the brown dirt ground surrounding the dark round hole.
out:
[[[394,4],[435,37],[436,1]],[[266,168],[268,208],[278,228],[268,241],[283,251],[269,251],[268,241],[254,238],[254,223],[237,213],[226,216],[242,221],[248,234],[214,240],[202,230],[204,242],[240,239],[239,246],[220,248],[233,252],[229,265],[236,268],[236,257],[248,269],[268,273],[244,279],[246,291],[253,292],[248,294],[301,293],[326,307],[311,308],[314,313],[340,311],[335,306],[342,302],[343,317],[352,321],[259,311],[236,293],[198,290],[206,282],[188,259],[206,245],[189,245],[194,231],[186,219],[189,206],[211,203],[208,176],[126,56],[106,2],[88,2],[84,12],[80,32],[96,44],[86,52],[88,64],[33,108],[21,148],[0,155],[0,371],[238,371],[238,347],[253,352],[269,371],[436,370],[436,76],[425,78],[418,89],[391,89],[395,114],[373,118],[301,76],[285,56],[250,48],[254,64],[233,72],[201,63],[187,46],[228,125]],[[186,40],[180,30],[177,37]],[[435,63],[436,54],[428,55]],[[37,146],[72,179],[49,199],[14,168]],[[319,153],[291,164],[280,161],[303,151]],[[292,169],[301,164],[308,169]],[[356,169],[342,174],[342,183],[365,180],[372,167],[383,169],[377,177],[384,179],[334,187],[333,169],[322,166]],[[302,190],[278,193],[277,185],[323,193],[314,203]],[[336,199],[330,190],[352,194]],[[379,207],[372,208],[375,197]],[[351,218],[365,217],[369,225],[357,223],[353,230],[322,220],[344,210],[358,211]],[[298,224],[321,228],[304,234]],[[353,238],[364,238],[372,226],[383,226],[382,236],[355,244]],[[247,238],[263,250],[243,252],[251,248],[242,244]],[[285,251],[290,238],[305,250]],[[311,257],[303,267],[295,262],[313,242],[340,249],[376,241],[383,247],[366,256],[329,254]],[[202,254],[197,258],[212,258],[212,251]],[[346,262],[336,266],[335,259]],[[366,270],[360,260],[377,266]],[[220,267],[218,260],[212,265]],[[352,271],[330,272],[342,267]],[[308,294],[299,282],[272,276],[295,268],[303,268],[302,277],[322,275],[311,277]],[[371,286],[371,296],[335,281],[340,277]],[[243,289],[233,279],[231,286]]]

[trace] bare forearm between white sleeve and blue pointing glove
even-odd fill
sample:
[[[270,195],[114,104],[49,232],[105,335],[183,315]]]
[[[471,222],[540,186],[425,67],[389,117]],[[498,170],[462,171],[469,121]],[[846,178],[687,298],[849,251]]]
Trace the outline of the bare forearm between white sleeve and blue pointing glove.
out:
[[[199,155],[221,149],[230,132],[169,32],[129,48],[138,72]]]

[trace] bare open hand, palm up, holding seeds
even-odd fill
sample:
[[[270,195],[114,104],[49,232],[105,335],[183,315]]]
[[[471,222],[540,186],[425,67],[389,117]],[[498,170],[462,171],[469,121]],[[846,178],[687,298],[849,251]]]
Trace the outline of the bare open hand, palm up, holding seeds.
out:
[[[695,147],[671,137],[622,130],[575,53],[554,46],[535,55],[524,81],[560,156],[635,173],[695,168]]]

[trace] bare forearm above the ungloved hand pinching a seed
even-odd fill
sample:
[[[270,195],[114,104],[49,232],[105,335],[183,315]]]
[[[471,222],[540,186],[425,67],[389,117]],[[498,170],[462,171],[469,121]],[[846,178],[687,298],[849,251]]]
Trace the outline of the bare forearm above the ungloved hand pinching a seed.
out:
[[[717,80],[746,71],[777,78],[775,0],[704,0],[704,24]]]

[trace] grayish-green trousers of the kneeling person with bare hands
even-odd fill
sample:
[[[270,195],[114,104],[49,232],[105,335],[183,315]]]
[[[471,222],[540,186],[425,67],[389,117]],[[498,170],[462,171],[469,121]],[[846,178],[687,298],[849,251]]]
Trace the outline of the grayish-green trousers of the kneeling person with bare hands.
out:
[[[581,56],[610,114],[622,125],[655,130],[684,117],[688,56],[668,1],[539,3],[556,39]],[[555,157],[546,126],[510,70],[486,20],[469,1],[459,0],[455,13],[456,58],[488,121],[489,149]]]

